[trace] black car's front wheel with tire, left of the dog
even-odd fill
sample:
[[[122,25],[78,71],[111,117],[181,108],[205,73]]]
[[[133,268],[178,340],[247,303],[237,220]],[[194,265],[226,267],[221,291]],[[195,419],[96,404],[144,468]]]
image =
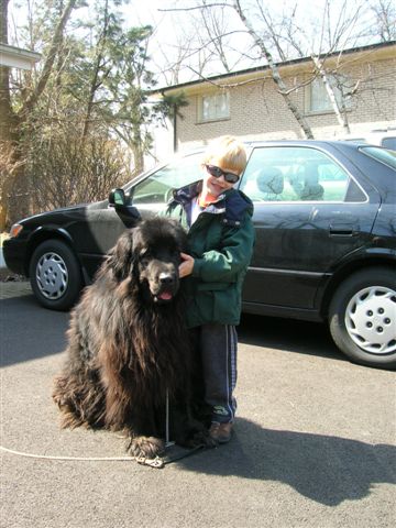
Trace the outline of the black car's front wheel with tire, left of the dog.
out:
[[[29,276],[38,302],[52,310],[72,308],[84,285],[76,255],[65,242],[55,239],[35,249]]]

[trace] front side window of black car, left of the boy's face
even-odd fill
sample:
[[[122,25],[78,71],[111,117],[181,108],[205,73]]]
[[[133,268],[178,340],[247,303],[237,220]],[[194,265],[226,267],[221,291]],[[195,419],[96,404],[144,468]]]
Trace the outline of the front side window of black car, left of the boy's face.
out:
[[[133,205],[163,206],[172,198],[173,189],[188,185],[201,176],[200,158],[202,154],[180,157],[155,170],[134,186]]]

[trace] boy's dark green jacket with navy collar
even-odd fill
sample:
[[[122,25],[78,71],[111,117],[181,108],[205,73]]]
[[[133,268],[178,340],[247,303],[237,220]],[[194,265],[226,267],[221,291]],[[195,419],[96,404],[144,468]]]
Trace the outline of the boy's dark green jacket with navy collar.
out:
[[[188,252],[195,258],[193,274],[182,279],[188,296],[187,324],[239,324],[254,244],[253,204],[243,193],[229,189],[188,228],[191,199],[200,187],[197,182],[175,190],[166,210],[186,229]]]

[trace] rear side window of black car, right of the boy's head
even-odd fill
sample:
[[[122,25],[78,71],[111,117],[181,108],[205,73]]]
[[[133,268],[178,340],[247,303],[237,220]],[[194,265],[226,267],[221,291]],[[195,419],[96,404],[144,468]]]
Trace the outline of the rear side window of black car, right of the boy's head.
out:
[[[354,191],[351,191],[351,187]],[[240,189],[253,201],[365,201],[346,170],[311,147],[253,150]]]

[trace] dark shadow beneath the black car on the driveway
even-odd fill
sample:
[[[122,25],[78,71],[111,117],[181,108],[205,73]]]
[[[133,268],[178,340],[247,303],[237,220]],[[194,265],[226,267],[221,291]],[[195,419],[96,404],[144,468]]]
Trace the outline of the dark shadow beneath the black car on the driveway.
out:
[[[0,293],[2,366],[43,358],[66,348],[68,312],[41,307],[29,283],[1,283]],[[346,361],[323,323],[244,314],[238,336],[245,344]]]

